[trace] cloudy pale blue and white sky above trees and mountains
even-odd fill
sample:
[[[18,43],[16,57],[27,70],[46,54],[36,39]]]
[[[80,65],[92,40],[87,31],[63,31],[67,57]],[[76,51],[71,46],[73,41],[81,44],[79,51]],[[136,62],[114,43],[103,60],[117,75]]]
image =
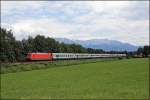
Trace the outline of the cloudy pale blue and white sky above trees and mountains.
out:
[[[149,1],[1,1],[1,25],[16,39],[37,34],[149,44]]]

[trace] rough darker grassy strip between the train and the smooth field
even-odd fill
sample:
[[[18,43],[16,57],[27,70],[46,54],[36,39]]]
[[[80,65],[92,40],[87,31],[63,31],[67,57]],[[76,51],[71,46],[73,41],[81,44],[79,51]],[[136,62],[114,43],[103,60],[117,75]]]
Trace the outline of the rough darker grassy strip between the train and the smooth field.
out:
[[[61,66],[96,63],[100,61],[118,60],[118,58],[100,58],[100,59],[79,59],[79,60],[57,60],[57,61],[36,61],[36,62],[18,62],[1,64],[0,73],[14,73],[21,71],[31,71],[37,69],[47,69]]]

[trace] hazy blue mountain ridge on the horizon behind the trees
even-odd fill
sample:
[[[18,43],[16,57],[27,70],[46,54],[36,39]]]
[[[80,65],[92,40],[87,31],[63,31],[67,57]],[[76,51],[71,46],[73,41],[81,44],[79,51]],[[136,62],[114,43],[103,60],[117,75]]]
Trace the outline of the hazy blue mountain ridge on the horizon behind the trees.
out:
[[[103,49],[105,51],[136,51],[139,46],[108,39],[70,40],[67,38],[55,38],[58,42],[66,44],[80,44],[86,48]]]

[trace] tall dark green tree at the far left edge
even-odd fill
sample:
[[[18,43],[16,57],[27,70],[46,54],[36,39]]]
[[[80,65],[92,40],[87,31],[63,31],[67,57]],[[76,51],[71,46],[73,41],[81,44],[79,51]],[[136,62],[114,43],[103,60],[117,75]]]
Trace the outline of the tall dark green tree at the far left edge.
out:
[[[0,28],[1,29],[1,28]],[[14,62],[15,57],[15,38],[12,35],[12,31],[7,31],[6,29],[1,29],[0,32],[0,61],[2,62]]]

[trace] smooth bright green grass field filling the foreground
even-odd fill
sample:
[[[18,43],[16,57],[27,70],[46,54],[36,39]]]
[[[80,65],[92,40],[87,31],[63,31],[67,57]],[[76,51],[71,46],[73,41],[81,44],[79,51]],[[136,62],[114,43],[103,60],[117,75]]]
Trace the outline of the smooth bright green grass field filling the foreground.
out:
[[[2,99],[148,99],[148,59],[1,74]]]

